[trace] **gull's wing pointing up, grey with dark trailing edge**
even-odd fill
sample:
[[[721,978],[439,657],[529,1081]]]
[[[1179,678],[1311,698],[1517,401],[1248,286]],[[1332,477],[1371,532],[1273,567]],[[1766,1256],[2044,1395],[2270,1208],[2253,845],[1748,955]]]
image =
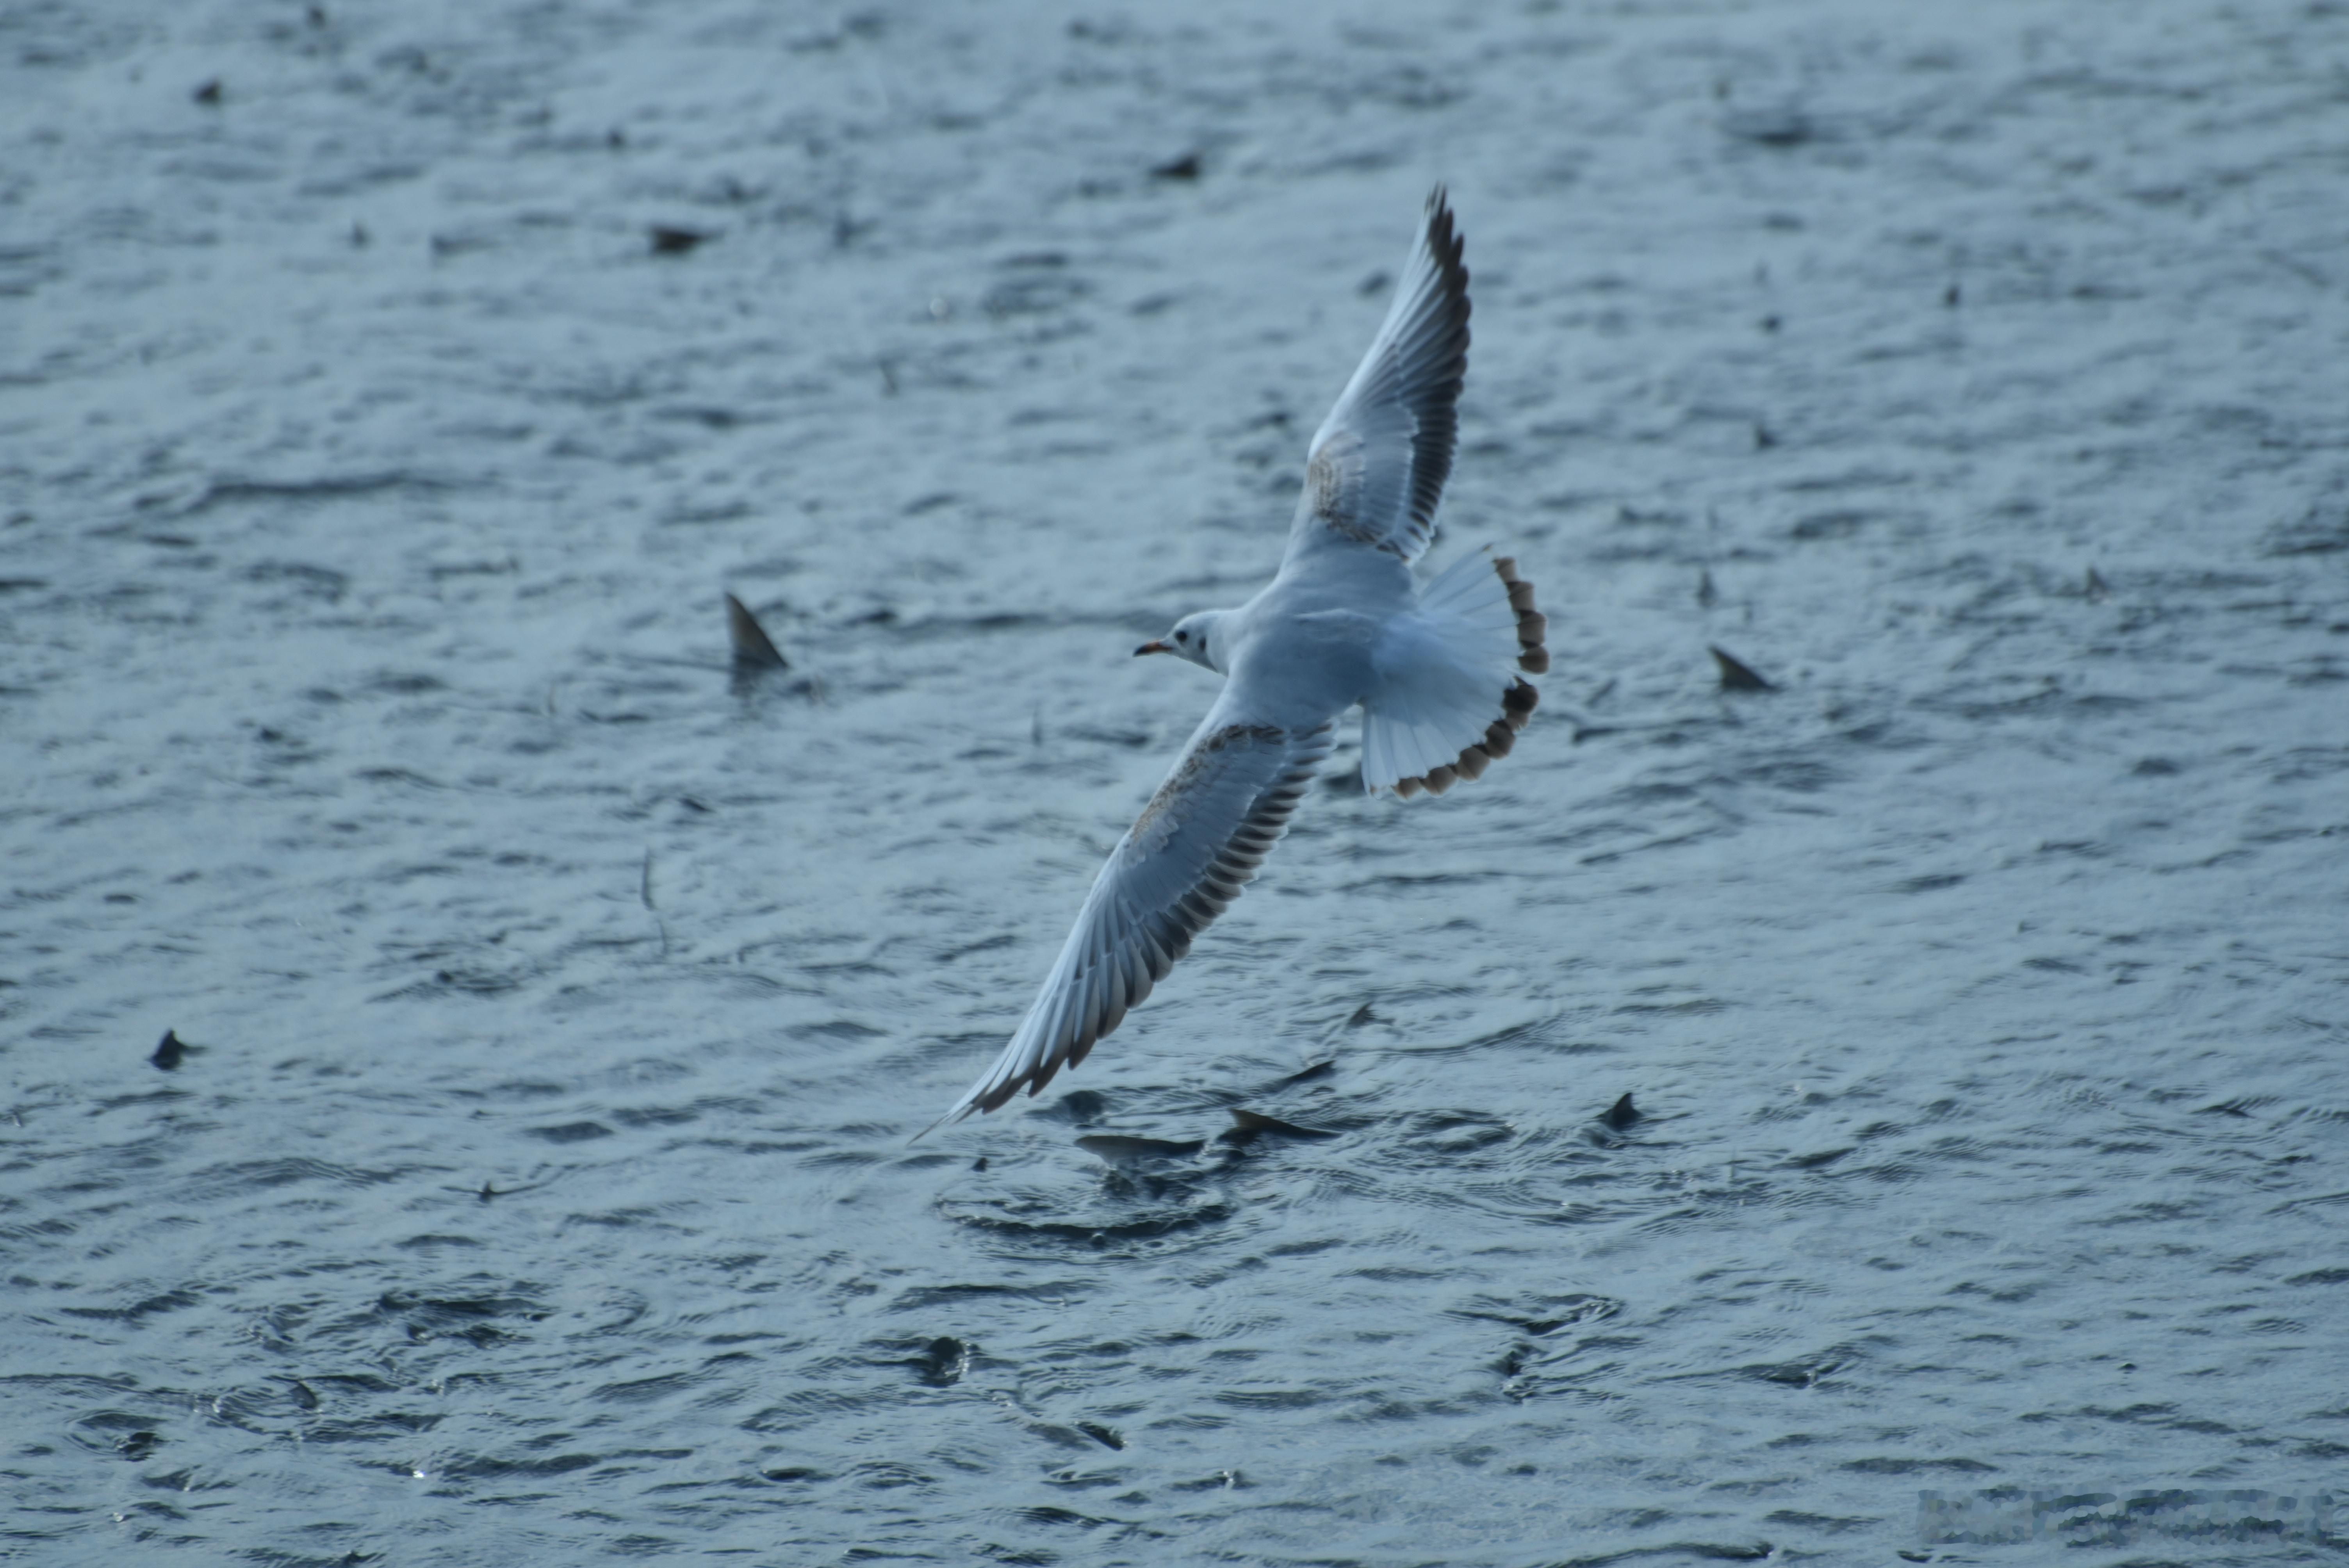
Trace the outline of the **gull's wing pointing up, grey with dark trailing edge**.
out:
[[[1466,373],[1468,268],[1438,185],[1386,324],[1313,434],[1290,556],[1330,540],[1405,561],[1428,547],[1452,474]]]

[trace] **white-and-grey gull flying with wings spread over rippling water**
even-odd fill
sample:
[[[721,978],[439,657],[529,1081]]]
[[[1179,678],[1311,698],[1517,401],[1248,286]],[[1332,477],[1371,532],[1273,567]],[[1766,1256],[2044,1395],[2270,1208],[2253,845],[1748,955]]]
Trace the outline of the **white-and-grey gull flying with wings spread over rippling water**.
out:
[[[1135,650],[1212,669],[1221,697],[1109,852],[1010,1045],[933,1127],[1036,1094],[1167,976],[1287,831],[1346,709],[1362,704],[1372,796],[1440,796],[1508,756],[1539,699],[1525,674],[1550,667],[1534,584],[1489,552],[1412,577],[1466,373],[1468,268],[1438,185],[1386,324],[1313,432],[1280,573]]]

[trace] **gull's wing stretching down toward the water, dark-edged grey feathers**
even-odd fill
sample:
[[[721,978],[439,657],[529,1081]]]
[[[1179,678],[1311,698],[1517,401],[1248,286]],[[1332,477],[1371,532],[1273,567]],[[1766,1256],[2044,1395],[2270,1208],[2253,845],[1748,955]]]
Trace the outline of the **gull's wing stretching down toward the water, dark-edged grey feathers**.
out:
[[[1233,685],[1092,880],[1059,962],[1010,1045],[940,1122],[1036,1094],[1085,1059],[1191,951],[1287,829],[1297,798],[1330,756],[1334,721],[1311,730],[1264,723]]]

